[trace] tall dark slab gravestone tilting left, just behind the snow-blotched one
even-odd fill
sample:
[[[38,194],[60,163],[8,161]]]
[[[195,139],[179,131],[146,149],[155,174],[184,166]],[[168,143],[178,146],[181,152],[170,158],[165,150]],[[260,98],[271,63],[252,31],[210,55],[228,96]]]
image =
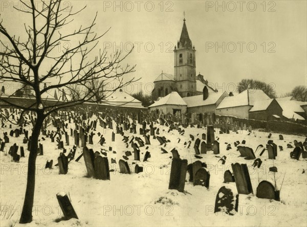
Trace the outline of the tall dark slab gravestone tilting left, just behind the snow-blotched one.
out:
[[[253,193],[250,175],[246,164],[231,164],[235,184],[239,194]]]

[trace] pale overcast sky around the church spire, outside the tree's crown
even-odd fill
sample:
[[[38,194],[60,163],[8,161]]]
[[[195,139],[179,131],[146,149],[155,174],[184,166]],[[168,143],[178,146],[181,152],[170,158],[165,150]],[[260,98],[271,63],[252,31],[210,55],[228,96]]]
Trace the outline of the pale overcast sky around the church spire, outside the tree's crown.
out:
[[[222,7],[216,8],[216,3]],[[1,17],[9,31],[18,34],[25,15],[16,14],[11,8],[13,4],[20,3],[1,1]],[[89,24],[98,12],[96,32],[101,34],[112,27],[100,41],[100,47],[106,47],[109,53],[120,47],[128,51],[131,44],[135,45],[127,62],[137,64],[136,72],[128,77],[141,78],[142,88],[148,91],[162,70],[174,73],[173,49],[180,38],[184,11],[196,49],[196,73],[203,74],[213,86],[231,91],[242,79],[257,79],[274,84],[277,93],[282,94],[297,85],[306,85],[306,1],[63,1],[63,4],[72,5],[74,10],[87,5],[70,28]],[[216,49],[216,45],[221,47]]]

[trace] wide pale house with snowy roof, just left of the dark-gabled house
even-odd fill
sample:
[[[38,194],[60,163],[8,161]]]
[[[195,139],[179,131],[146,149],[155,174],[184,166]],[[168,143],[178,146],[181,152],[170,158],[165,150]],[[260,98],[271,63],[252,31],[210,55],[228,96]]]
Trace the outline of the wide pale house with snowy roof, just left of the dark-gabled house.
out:
[[[249,111],[258,100],[270,99],[262,90],[245,90],[242,93],[225,97],[217,106],[215,114],[249,118]]]

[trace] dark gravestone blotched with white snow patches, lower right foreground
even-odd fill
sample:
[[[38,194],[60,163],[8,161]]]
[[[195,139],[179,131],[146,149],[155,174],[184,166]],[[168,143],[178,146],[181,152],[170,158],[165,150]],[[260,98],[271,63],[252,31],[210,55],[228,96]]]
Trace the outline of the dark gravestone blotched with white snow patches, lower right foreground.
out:
[[[231,189],[221,187],[216,194],[214,213],[225,211],[228,215],[234,215],[238,211],[239,194],[234,196]]]

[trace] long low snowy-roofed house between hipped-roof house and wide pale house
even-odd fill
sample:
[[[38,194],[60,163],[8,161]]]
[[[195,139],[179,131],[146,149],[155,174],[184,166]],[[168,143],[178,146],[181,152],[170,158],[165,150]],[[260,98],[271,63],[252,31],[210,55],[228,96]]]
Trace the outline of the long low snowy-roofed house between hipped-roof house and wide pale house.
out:
[[[216,107],[228,96],[226,91],[214,92],[209,89],[204,86],[203,94],[183,98],[189,113],[215,113]]]

